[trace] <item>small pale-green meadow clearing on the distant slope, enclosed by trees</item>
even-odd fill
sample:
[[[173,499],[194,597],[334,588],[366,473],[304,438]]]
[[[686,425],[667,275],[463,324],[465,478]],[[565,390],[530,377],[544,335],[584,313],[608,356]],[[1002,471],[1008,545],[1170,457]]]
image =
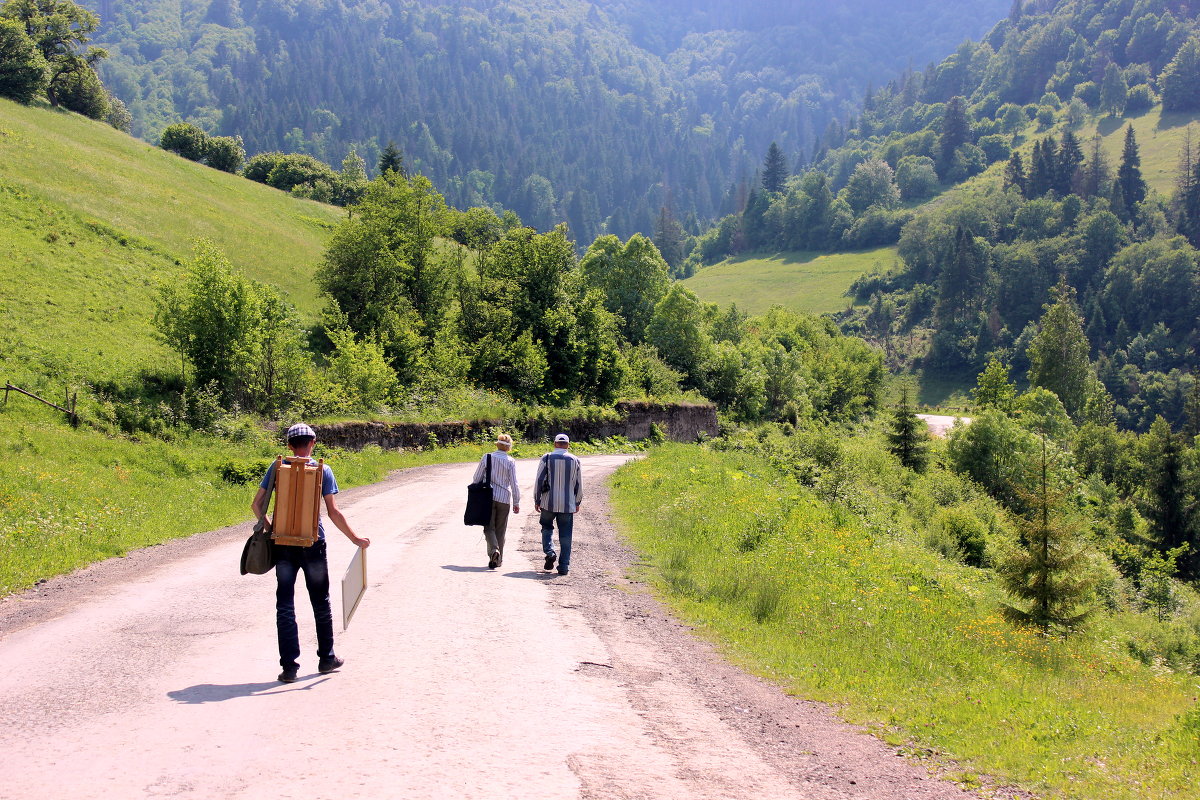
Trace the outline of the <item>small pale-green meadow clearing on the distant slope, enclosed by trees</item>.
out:
[[[895,247],[856,253],[793,252],[731,258],[684,281],[701,300],[730,302],[751,314],[772,306],[806,313],[841,311],[851,303],[846,290],[863,272],[887,270]]]

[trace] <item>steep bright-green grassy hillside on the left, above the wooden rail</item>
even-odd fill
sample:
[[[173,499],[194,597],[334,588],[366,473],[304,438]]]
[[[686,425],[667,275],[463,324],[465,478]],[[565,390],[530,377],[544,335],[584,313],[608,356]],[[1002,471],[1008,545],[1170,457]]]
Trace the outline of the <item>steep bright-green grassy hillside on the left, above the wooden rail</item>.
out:
[[[166,357],[150,337],[154,295],[197,237],[312,314],[311,275],[342,213],[76,114],[0,100],[0,313],[11,321],[0,360],[103,378]]]

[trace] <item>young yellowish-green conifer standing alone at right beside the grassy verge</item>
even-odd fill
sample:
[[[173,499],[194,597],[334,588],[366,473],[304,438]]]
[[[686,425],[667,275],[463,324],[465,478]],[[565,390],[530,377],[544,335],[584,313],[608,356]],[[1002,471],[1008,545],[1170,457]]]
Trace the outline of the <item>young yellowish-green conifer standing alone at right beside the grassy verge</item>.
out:
[[[1051,470],[1049,445],[1031,465],[1031,489],[1020,491],[1026,511],[1018,518],[1020,546],[996,565],[1001,583],[1022,607],[1004,604],[1009,619],[1042,628],[1070,630],[1091,609],[1085,604],[1096,585],[1081,527],[1066,507],[1066,491]]]

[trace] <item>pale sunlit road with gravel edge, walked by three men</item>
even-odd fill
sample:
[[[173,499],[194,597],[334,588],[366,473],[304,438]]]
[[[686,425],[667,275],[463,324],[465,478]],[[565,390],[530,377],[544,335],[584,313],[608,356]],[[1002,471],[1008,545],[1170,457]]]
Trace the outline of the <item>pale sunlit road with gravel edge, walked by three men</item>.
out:
[[[726,666],[630,583],[600,486],[624,461],[586,459],[566,577],[539,569],[528,498],[486,569],[461,524],[472,465],[343,493],[370,588],[332,675],[298,593],[292,685],[274,680],[274,576],[238,575],[246,525],[0,602],[0,796],[972,796]],[[335,578],[352,549],[334,531]]]

